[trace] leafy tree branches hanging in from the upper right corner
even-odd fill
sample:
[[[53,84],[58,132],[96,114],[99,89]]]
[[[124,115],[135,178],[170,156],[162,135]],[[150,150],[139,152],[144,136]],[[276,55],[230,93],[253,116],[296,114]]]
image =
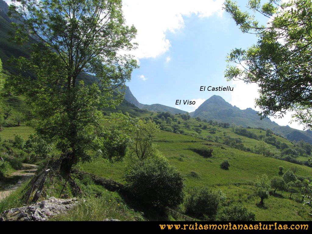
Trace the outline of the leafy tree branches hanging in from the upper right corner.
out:
[[[283,117],[290,110],[295,113],[295,121],[311,129],[311,0],[269,0],[262,5],[260,0],[249,0],[248,8],[260,13],[267,25],[261,25],[250,12],[242,12],[231,0],[225,1],[224,8],[242,32],[259,37],[247,49],[232,50],[227,59],[226,78],[259,85],[256,105],[263,110],[261,118]]]

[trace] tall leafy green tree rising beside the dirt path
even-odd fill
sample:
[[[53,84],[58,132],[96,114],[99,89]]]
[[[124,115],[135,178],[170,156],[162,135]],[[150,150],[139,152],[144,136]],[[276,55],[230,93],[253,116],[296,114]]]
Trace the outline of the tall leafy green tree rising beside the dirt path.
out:
[[[15,40],[31,43],[32,52],[13,61],[19,74],[10,81],[32,105],[38,133],[61,150],[61,173],[68,175],[98,145],[100,107],[122,100],[117,87],[136,62],[119,54],[133,48],[136,30],[125,26],[120,0],[13,3],[11,15],[22,21]]]

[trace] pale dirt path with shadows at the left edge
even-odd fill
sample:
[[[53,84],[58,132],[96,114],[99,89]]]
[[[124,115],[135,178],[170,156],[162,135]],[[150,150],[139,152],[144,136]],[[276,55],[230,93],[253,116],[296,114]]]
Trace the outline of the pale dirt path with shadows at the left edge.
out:
[[[33,164],[22,164],[22,169],[11,173],[0,181],[0,201],[12,193],[23,181],[31,178],[37,171],[38,166]]]

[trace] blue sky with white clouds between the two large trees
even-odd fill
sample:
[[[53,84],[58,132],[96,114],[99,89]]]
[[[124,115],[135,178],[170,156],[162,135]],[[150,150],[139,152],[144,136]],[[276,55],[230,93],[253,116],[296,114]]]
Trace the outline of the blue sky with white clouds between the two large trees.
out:
[[[237,2],[247,10],[246,0]],[[124,17],[138,30],[139,46],[131,53],[140,65],[127,85],[140,103],[191,112],[212,95],[220,95],[240,109],[260,110],[254,104],[256,85],[224,78],[231,49],[247,48],[257,38],[243,34],[222,11],[222,4],[218,0],[124,0]],[[199,91],[200,86],[231,86],[234,90]],[[196,105],[175,105],[176,100],[195,100]],[[290,117],[271,120],[302,130],[296,123],[289,124]]]

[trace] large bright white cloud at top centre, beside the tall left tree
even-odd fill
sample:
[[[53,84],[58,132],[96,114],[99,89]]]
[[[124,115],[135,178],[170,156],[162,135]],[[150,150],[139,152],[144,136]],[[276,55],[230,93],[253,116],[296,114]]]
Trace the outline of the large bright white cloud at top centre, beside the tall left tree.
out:
[[[123,12],[128,25],[138,30],[135,42],[138,49],[131,54],[140,58],[157,57],[168,51],[171,44],[166,32],[178,32],[184,26],[183,17],[196,14],[222,16],[223,0],[124,0]]]

